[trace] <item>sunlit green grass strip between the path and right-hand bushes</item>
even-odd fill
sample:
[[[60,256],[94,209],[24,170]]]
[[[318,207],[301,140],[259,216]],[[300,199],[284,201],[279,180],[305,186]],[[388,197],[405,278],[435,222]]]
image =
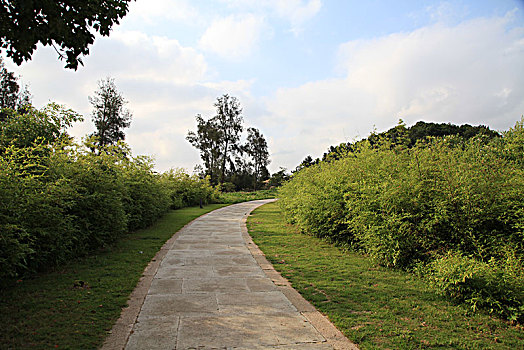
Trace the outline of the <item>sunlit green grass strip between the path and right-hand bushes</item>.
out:
[[[361,349],[523,349],[521,326],[472,314],[407,272],[373,265],[285,224],[277,203],[249,233],[275,268]]]

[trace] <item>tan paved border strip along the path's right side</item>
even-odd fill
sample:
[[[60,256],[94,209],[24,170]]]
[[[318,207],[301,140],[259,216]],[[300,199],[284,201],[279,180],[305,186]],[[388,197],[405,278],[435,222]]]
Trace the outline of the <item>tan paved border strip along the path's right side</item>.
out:
[[[304,316],[315,329],[326,339],[327,343],[332,345],[336,350],[358,350],[358,346],[351,342],[340,330],[338,330],[333,323],[323,314],[321,314],[309,301],[304,299],[299,292],[297,292],[291,283],[284,278],[273,265],[267,260],[265,254],[253,242],[253,238],[249,235],[247,229],[247,218],[251,212],[264,204],[275,202],[276,199],[262,203],[257,207],[253,207],[242,218],[242,237],[246,242],[251,255],[262,268],[266,276],[273,281],[275,286],[288,298],[288,300],[297,308],[297,310]]]

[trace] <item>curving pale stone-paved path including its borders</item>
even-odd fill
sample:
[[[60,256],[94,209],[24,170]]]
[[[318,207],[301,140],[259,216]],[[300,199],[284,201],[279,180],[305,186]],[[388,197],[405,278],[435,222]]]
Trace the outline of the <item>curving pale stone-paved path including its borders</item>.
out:
[[[179,231],[157,257],[148,291],[135,296],[138,317],[126,325],[123,314],[104,348],[356,349],[247,234],[247,215],[269,201],[218,209]]]

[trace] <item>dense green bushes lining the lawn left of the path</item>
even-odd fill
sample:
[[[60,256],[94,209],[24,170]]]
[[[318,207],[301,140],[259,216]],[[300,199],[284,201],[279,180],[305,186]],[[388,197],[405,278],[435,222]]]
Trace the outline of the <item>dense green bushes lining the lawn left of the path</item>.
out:
[[[65,129],[77,116],[51,107],[10,111],[0,123],[0,281],[104,247],[169,208],[212,200],[207,181],[156,174],[125,144],[73,143]]]

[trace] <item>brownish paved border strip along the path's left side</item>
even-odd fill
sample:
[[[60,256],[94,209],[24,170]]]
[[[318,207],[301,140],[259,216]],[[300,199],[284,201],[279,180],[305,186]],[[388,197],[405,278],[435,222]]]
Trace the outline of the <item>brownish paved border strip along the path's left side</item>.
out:
[[[226,207],[228,206],[222,208]],[[162,263],[162,260],[166,256],[167,252],[173,247],[175,241],[182,234],[182,232],[184,232],[188,226],[193,224],[195,220],[209,215],[212,212],[220,210],[222,208],[217,208],[208,213],[200,215],[199,217],[194,218],[193,220],[185,224],[180,230],[175,232],[171,236],[171,238],[169,238],[164,243],[164,245],[160,248],[160,250],[155,254],[155,256],[151,259],[151,261],[147,264],[146,268],[144,269],[144,272],[138,280],[135,289],[133,289],[129,296],[129,299],[127,300],[127,306],[122,309],[120,317],[116,320],[115,324],[109,331],[100,350],[122,350],[125,348],[125,346],[127,345],[127,341],[129,340],[129,336],[133,331],[133,326],[135,325],[136,320],[138,318],[138,314],[140,313],[142,305],[144,304],[144,300],[147,296],[147,293],[149,292],[151,283],[153,282],[153,277],[155,277],[156,272],[158,271],[158,268]]]

